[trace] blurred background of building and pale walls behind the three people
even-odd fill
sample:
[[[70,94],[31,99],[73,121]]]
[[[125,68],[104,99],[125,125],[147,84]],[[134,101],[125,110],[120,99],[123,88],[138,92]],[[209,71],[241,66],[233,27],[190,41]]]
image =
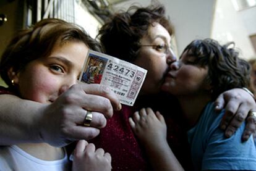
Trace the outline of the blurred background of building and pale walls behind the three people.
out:
[[[242,58],[256,59],[256,0],[0,0],[0,56],[15,31],[41,19],[77,23],[95,38],[115,12],[156,3],[166,7],[174,25],[177,56],[190,41],[213,38],[234,41]]]

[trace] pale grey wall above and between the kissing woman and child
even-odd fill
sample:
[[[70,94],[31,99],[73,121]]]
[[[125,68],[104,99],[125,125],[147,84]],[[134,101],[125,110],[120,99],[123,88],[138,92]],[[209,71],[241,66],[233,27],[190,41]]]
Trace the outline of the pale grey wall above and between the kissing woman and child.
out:
[[[226,1],[226,0],[225,0]],[[209,38],[215,0],[159,0],[175,27],[178,54],[196,38]],[[116,10],[127,9],[130,4],[148,6],[150,0],[130,0],[114,6]]]

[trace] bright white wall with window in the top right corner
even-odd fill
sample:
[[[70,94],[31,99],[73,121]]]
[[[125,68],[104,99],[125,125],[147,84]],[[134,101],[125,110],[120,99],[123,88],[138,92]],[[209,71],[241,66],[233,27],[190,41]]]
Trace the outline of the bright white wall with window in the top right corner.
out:
[[[236,11],[231,0],[218,0],[212,38],[227,43],[234,41],[241,57],[249,59],[255,55],[249,35],[256,33],[256,7]]]

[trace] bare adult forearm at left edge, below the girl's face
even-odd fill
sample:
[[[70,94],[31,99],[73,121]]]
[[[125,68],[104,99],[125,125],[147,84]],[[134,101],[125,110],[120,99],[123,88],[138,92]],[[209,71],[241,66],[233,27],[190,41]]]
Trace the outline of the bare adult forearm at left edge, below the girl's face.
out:
[[[0,101],[0,145],[43,141],[38,123],[44,104],[9,94],[0,95]]]

